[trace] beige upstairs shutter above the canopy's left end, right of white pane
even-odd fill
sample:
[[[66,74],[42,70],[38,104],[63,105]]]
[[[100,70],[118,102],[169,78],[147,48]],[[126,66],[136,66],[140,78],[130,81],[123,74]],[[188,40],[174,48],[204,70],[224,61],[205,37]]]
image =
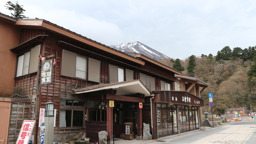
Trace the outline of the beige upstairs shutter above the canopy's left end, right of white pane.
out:
[[[88,80],[100,83],[100,61],[89,58]]]

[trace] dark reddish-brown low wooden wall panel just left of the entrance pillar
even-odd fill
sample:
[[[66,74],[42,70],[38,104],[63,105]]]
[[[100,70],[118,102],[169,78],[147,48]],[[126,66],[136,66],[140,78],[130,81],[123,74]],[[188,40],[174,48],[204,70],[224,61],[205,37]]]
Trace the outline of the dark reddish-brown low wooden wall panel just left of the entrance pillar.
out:
[[[107,131],[106,121],[86,121],[86,137],[91,138],[91,142],[99,141],[100,131]]]

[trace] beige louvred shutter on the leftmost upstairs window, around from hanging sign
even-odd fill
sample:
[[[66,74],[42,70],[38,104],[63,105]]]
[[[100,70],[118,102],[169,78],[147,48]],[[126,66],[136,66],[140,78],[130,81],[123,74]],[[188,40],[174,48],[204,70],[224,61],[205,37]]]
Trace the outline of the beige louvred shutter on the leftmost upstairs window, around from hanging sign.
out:
[[[30,61],[29,61],[28,73],[37,72],[38,60],[39,60],[39,54],[40,54],[40,46],[41,45],[38,45],[38,46],[32,48],[30,51]]]

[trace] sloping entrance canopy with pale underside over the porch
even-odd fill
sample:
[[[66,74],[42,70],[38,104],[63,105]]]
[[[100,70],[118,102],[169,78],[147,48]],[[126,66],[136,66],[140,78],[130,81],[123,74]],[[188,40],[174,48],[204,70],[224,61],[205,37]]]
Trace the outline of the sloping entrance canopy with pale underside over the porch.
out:
[[[117,90],[117,95],[135,95],[137,93],[140,93],[145,95],[145,97],[151,96],[151,93],[148,90],[148,88],[140,80],[130,80],[110,84],[98,84],[95,86],[76,89],[74,90],[74,92],[75,94],[79,94],[108,89]]]

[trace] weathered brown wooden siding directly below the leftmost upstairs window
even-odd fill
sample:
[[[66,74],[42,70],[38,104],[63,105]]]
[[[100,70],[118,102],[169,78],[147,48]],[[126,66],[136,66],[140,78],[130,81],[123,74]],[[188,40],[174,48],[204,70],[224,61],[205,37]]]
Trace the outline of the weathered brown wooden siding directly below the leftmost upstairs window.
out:
[[[20,77],[15,79],[13,94],[17,94],[14,97],[16,98],[28,98],[28,97],[20,97],[20,96],[30,96],[35,95],[36,90],[33,87],[36,87],[36,77],[37,74],[34,73],[32,75],[27,75],[25,77]],[[20,96],[18,96],[20,95]]]

